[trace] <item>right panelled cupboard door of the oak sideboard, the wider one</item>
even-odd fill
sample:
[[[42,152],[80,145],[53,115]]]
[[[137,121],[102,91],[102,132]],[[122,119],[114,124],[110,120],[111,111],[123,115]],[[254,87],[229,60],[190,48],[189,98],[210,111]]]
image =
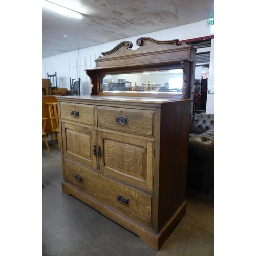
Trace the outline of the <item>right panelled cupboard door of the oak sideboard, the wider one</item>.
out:
[[[100,170],[117,180],[152,190],[154,142],[98,132]]]

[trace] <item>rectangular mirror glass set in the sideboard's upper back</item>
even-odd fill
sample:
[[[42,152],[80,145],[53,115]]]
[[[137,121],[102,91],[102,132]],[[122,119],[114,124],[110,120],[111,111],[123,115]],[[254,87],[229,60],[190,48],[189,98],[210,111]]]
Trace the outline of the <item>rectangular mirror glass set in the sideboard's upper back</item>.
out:
[[[182,93],[183,70],[100,75],[100,92]]]

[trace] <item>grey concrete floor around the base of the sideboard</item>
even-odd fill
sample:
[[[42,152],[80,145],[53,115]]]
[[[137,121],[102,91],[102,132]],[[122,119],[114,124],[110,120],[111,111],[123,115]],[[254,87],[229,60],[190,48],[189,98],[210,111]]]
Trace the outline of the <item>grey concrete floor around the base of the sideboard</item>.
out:
[[[47,137],[47,140],[50,136]],[[214,191],[187,188],[187,211],[159,251],[96,210],[62,193],[57,141],[42,150],[42,255],[214,255]]]

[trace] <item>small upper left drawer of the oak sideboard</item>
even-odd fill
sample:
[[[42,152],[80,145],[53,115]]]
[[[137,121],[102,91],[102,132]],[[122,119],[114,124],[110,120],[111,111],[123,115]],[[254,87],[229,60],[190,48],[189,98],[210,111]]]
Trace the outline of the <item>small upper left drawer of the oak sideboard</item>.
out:
[[[60,102],[60,118],[94,125],[94,105]]]

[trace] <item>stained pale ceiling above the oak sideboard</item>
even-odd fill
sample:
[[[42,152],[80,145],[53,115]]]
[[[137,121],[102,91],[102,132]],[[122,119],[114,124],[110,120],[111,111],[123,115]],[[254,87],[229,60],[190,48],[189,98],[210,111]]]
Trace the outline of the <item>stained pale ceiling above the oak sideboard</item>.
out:
[[[83,17],[69,18],[42,8],[43,58],[214,17],[213,0],[49,1]]]

